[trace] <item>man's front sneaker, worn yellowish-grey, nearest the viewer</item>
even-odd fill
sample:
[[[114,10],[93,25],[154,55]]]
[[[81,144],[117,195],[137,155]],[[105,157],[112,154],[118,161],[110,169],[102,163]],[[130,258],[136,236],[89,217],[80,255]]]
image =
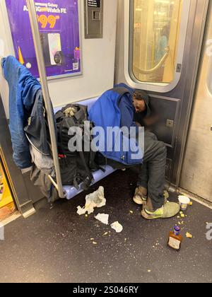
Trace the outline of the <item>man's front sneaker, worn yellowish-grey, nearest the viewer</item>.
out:
[[[157,209],[153,212],[148,211],[145,207],[143,207],[143,210],[141,211],[141,216],[143,216],[143,218],[147,220],[169,219],[173,216],[177,216],[179,210],[180,206],[178,203],[170,202],[164,204],[160,209]]]

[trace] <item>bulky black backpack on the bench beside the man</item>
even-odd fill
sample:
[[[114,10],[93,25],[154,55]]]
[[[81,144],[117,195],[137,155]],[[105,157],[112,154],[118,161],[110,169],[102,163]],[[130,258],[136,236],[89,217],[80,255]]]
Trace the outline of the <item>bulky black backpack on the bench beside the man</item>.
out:
[[[79,127],[83,135],[84,149],[84,122],[88,120],[88,109],[84,105],[69,104],[59,110],[55,117],[62,183],[63,185],[73,185],[76,189],[79,189],[78,186],[82,183],[83,190],[88,190],[93,182],[91,170],[98,168],[95,164],[95,152],[91,148],[89,152],[81,150],[71,152],[68,147],[70,139],[76,135],[69,136],[69,129]],[[90,129],[93,129],[93,123],[90,123]],[[91,140],[89,136],[87,139],[89,145]]]

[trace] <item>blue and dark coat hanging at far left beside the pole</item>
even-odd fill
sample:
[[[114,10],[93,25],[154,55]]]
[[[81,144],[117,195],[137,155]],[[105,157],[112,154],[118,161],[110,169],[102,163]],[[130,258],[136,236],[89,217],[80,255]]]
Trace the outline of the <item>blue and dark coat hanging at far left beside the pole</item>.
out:
[[[30,142],[40,153],[49,154],[41,86],[16,58],[2,59],[1,66],[9,86],[13,160],[20,169],[29,168],[32,165]]]

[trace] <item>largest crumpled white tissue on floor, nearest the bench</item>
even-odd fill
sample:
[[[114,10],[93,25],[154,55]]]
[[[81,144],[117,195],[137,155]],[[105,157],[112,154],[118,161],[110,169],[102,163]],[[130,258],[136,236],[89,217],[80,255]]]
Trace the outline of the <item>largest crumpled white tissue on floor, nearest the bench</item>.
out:
[[[92,214],[95,207],[102,207],[106,205],[106,199],[104,194],[104,187],[99,187],[99,189],[92,194],[89,194],[86,196],[86,205],[81,208],[81,206],[78,206],[78,215],[86,214]]]

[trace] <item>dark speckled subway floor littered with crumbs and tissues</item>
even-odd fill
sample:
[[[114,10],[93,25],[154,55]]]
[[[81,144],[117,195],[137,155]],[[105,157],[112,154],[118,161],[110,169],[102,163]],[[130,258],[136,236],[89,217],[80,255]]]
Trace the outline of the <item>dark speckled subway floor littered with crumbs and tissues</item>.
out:
[[[1,282],[211,282],[212,240],[206,224],[212,210],[197,202],[185,218],[146,221],[141,207],[132,202],[136,173],[117,171],[90,192],[105,187],[106,206],[86,216],[76,214],[84,192],[53,208],[39,206],[28,219],[19,218],[5,227],[0,241]],[[170,201],[177,200],[170,194]],[[119,221],[122,233],[97,221],[96,214]],[[181,224],[179,252],[167,247],[169,231]],[[186,237],[189,232],[192,239]],[[106,234],[107,233],[107,234]],[[106,234],[106,235],[105,235]],[[93,242],[97,243],[96,245]]]

